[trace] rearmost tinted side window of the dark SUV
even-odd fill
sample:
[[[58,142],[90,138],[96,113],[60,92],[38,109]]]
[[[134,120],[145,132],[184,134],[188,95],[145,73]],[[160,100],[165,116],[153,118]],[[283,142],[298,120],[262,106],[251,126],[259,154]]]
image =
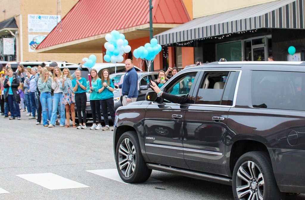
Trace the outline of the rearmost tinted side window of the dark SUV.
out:
[[[305,110],[305,73],[253,71],[254,108]]]

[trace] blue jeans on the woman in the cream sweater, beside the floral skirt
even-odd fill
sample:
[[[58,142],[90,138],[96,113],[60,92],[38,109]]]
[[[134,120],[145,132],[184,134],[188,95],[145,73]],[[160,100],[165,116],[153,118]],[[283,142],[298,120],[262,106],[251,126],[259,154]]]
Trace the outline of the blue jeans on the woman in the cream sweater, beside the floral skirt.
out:
[[[57,109],[58,109],[59,114],[60,114],[60,125],[65,125],[66,108],[65,108],[65,105],[62,104],[62,101],[63,101],[63,93],[62,92],[54,93],[53,110],[52,110],[50,124],[55,125],[55,121],[57,118]],[[59,103],[60,103],[60,106],[58,106]]]

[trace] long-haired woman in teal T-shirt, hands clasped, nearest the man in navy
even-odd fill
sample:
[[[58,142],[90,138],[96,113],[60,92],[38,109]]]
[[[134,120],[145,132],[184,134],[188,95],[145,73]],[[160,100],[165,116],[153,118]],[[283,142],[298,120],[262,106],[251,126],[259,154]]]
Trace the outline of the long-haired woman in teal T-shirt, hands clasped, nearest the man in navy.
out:
[[[108,110],[114,125],[115,111],[113,102],[114,85],[109,78],[109,71],[107,69],[102,71],[102,81],[99,84],[99,93],[101,93],[102,113],[105,121],[105,128],[103,130],[110,130],[108,122]]]

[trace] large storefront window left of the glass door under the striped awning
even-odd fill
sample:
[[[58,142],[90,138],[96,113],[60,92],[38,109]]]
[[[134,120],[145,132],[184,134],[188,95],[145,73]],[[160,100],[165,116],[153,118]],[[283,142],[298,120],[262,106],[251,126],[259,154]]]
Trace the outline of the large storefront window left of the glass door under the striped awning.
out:
[[[242,61],[242,41],[217,44],[217,61],[221,58],[227,61]]]

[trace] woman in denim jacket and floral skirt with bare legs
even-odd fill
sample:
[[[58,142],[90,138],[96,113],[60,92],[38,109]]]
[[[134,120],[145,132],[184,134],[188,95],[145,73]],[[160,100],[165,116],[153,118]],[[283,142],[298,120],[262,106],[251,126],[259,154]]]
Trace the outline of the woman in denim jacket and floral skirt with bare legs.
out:
[[[75,110],[74,110],[74,104],[75,104],[75,95],[74,90],[72,87],[72,79],[70,74],[70,70],[68,68],[63,69],[63,78],[59,80],[59,88],[63,91],[63,100],[62,104],[66,107],[66,120],[67,125],[65,128],[70,127],[70,111],[71,111],[71,118],[73,121],[73,128],[76,128],[75,125]]]

